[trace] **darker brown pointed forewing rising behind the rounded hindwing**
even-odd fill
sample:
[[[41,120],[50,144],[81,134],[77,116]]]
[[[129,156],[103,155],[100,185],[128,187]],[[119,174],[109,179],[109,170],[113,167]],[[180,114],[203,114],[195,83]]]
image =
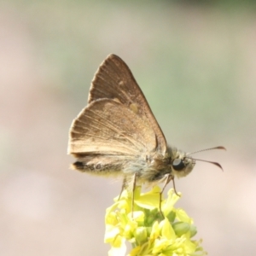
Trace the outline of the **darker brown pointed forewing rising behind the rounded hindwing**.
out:
[[[102,98],[118,99],[126,108],[137,113],[137,117],[149,123],[156,137],[155,149],[161,154],[166,153],[166,138],[149,108],[143,91],[129,67],[117,55],[108,55],[92,81],[88,102]]]

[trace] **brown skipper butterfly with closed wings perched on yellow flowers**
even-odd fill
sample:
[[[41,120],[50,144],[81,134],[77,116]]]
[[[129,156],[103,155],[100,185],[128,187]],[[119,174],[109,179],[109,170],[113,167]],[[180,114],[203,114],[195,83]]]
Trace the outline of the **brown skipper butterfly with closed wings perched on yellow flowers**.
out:
[[[195,166],[189,154],[167,146],[143,91],[117,55],[108,55],[97,70],[88,105],[71,125],[67,151],[77,158],[73,169],[124,177],[123,189],[163,181],[165,188]]]

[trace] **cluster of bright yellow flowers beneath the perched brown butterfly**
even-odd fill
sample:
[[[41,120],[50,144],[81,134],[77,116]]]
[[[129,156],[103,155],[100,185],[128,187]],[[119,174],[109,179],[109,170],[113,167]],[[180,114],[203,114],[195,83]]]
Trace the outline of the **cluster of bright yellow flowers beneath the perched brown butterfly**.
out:
[[[180,198],[173,189],[166,200],[161,200],[160,188],[154,187],[141,193],[141,187],[134,191],[133,212],[132,193],[124,190],[106,211],[105,242],[111,245],[108,255],[125,255],[125,241],[131,243],[129,256],[172,256],[206,255],[201,241],[191,240],[196,234],[192,218],[183,209],[174,207]]]

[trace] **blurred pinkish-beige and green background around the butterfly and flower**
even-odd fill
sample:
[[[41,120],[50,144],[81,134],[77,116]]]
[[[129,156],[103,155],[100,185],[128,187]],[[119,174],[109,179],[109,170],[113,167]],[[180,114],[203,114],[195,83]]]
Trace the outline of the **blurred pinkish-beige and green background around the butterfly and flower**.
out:
[[[131,68],[168,143],[198,162],[176,181],[209,255],[256,251],[253,1],[0,3],[0,254],[107,255],[120,182],[71,171],[68,130],[114,53]],[[238,3],[236,3],[238,2]],[[171,186],[170,186],[171,187]]]

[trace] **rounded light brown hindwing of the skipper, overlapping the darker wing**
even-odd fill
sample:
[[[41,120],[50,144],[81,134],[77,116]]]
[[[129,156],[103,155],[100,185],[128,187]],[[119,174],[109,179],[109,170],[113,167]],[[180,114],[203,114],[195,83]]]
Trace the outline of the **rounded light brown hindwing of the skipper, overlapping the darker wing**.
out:
[[[68,153],[84,155],[141,155],[155,149],[156,137],[147,119],[117,100],[91,102],[73,120]]]

